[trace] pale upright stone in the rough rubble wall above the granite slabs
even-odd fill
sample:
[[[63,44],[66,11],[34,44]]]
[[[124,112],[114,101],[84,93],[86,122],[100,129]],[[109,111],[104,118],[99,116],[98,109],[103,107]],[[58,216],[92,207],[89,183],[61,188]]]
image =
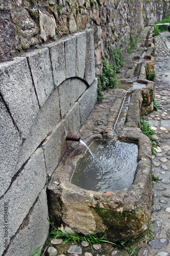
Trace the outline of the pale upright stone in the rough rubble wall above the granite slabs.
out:
[[[48,38],[53,38],[56,35],[56,21],[53,15],[39,10],[39,25],[40,37],[46,41]]]

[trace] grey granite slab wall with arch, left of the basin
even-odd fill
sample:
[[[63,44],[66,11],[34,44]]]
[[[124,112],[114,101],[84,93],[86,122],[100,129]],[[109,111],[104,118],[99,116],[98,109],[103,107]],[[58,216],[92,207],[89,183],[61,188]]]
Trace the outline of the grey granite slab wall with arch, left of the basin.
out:
[[[97,98],[93,45],[90,29],[0,64],[0,255],[46,240],[48,178]]]

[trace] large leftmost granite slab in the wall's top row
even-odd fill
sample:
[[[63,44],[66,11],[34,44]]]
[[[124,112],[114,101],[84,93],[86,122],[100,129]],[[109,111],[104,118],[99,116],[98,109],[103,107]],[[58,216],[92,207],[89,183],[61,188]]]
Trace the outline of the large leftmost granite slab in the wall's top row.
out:
[[[0,64],[1,93],[21,132],[27,136],[39,106],[26,57]]]

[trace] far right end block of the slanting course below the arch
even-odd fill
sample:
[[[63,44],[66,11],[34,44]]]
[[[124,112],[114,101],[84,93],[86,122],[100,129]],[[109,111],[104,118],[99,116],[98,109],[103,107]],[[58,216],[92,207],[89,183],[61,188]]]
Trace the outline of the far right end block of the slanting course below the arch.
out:
[[[98,96],[97,87],[98,79],[96,78],[92,86],[82,95],[79,100],[81,125],[85,123],[87,117],[94,108]]]

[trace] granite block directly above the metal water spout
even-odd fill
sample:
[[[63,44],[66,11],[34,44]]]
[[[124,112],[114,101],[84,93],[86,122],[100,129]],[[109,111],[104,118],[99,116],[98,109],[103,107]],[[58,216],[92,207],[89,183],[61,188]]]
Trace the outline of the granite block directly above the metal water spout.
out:
[[[72,109],[68,112],[64,119],[64,126],[67,135],[75,136],[80,130],[80,110],[79,103],[77,102]]]

